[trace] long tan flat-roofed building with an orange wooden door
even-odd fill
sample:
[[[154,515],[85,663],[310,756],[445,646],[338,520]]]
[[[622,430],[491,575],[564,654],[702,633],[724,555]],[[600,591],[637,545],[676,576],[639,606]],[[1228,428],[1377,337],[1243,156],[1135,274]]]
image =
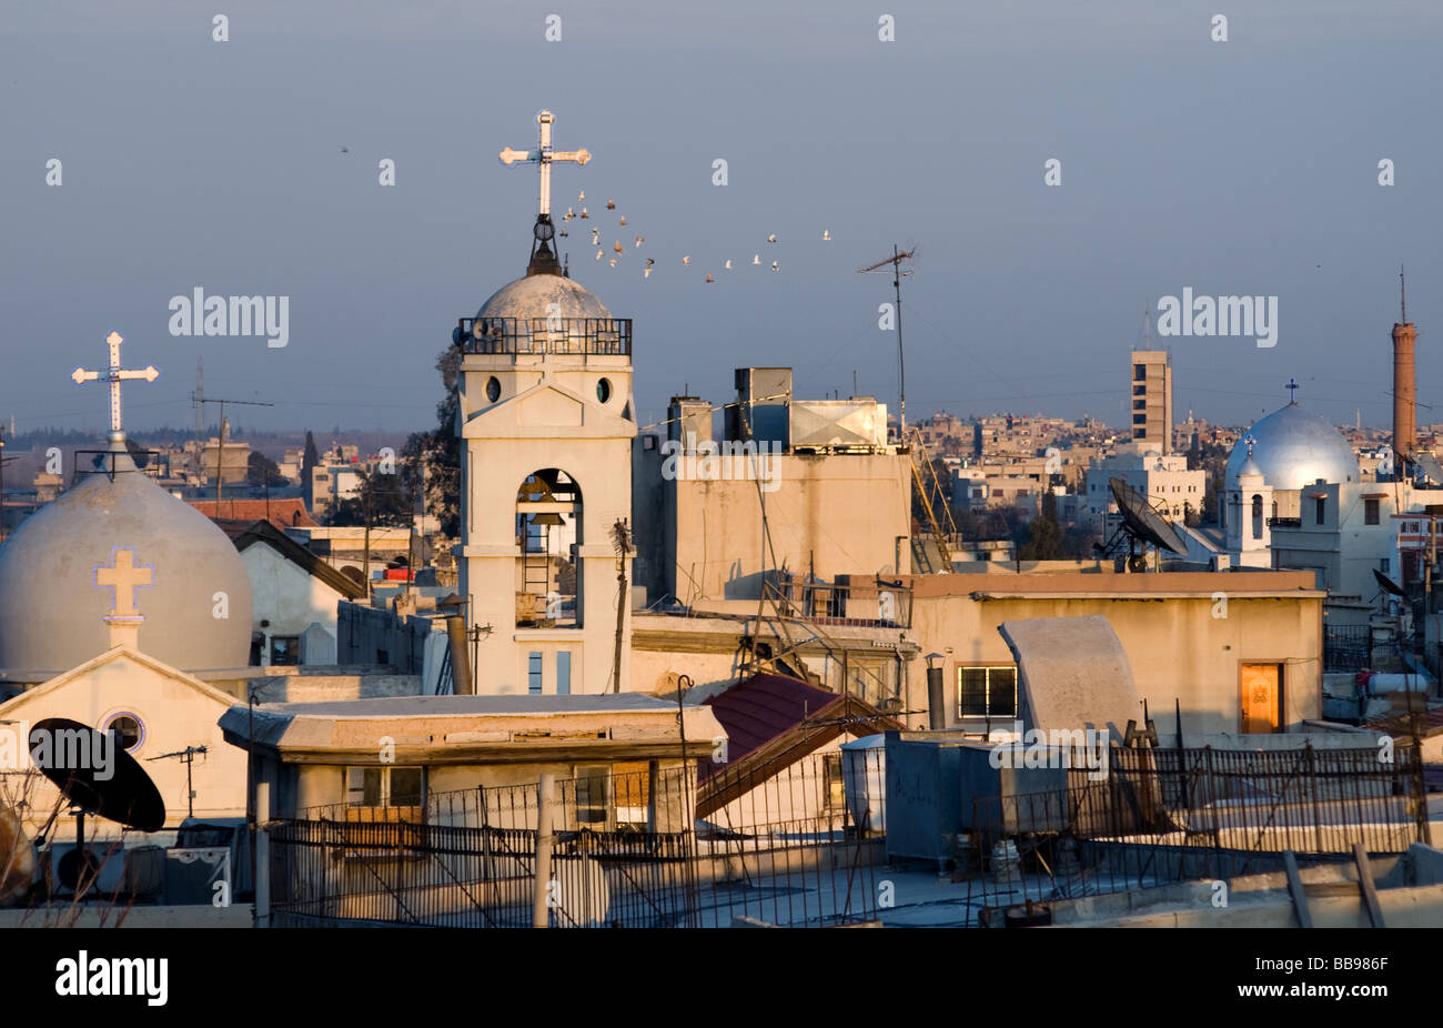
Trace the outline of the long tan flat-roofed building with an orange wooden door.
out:
[[[1016,666],[997,632],[1004,621],[1089,614],[1111,624],[1159,731],[1175,731],[1175,702],[1193,738],[1320,716],[1326,593],[1310,572],[932,575],[909,585],[908,635],[944,654],[948,726],[986,733],[1013,719]],[[926,709],[916,690],[908,710]]]

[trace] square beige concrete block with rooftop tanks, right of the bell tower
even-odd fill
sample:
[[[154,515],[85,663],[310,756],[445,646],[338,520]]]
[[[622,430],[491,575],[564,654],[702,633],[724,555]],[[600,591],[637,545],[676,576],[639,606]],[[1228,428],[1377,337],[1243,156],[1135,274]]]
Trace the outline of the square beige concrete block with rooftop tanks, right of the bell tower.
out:
[[[742,368],[737,380],[760,371],[769,384],[749,388],[785,400],[743,394],[727,439],[713,440],[709,406],[677,397],[667,439],[636,446],[636,583],[648,602],[755,602],[784,567],[828,582],[909,569],[912,469],[886,440],[885,406],[794,400],[791,368]]]

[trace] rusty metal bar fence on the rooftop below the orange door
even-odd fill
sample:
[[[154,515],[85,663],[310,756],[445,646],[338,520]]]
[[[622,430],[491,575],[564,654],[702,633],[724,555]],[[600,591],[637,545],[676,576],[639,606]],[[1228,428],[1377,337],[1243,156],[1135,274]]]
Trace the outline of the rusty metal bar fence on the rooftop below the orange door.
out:
[[[1351,859],[1429,842],[1414,746],[1114,749],[1105,778],[977,798],[964,874],[975,923],[1081,895]]]

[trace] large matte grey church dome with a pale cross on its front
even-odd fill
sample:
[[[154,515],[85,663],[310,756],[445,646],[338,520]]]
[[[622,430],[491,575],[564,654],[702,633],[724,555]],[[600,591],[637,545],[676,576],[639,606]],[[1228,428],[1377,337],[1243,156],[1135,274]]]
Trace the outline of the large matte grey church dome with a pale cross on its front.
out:
[[[234,543],[137,471],[124,442],[95,459],[115,474],[82,475],[0,544],[0,668],[49,677],[85,663],[111,648],[102,618],[131,602],[143,653],[185,671],[244,667],[251,582]]]

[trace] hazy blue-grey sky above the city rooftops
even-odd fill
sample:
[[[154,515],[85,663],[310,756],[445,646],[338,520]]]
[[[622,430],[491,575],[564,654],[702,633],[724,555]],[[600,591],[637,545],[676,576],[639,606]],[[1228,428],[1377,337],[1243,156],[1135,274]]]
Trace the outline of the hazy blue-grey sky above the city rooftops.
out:
[[[563,243],[635,321],[642,423],[684,386],[732,398],[746,364],[792,365],[802,397],[856,371],[895,410],[890,279],[857,269],[902,243],[909,419],[1124,424],[1143,308],[1190,287],[1277,296],[1278,334],[1154,336],[1179,417],[1253,420],[1296,375],[1304,404],[1385,424],[1400,263],[1421,403],[1443,371],[1440,43],[1436,0],[6,0],[0,417],[101,432],[68,375],[118,329],[127,367],[162,370],[127,390],[136,429],[193,422],[198,358],[209,396],[277,404],[241,424],[431,426],[456,318],[525,269],[535,172],[496,153],[548,107],[556,146],[593,154],[557,166],[554,204],[586,189]],[[289,345],[173,338],[196,286],[289,296]]]

